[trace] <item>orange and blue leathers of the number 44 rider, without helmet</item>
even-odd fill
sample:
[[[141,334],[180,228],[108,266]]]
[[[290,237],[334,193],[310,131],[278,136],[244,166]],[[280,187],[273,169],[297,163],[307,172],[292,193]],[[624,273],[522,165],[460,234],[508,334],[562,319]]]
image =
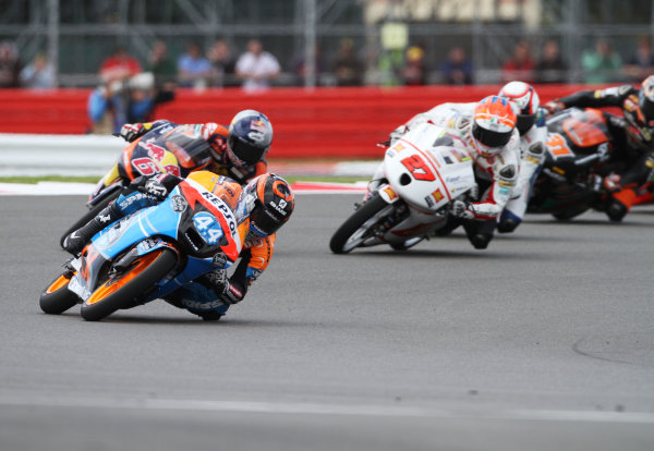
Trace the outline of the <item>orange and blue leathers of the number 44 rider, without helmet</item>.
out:
[[[203,319],[219,319],[229,306],[239,303],[247,289],[267,268],[275,247],[275,234],[265,237],[249,235],[250,218],[242,207],[241,185],[229,178],[209,171],[196,171],[191,179],[225,200],[235,211],[238,234],[242,242],[240,261],[233,275],[228,277],[223,254],[214,256],[216,269],[198,279],[181,285],[165,296],[170,304],[185,308]],[[73,232],[64,241],[64,248],[78,254],[90,237],[110,223],[152,207],[164,200],[168,193],[183,179],[172,174],[156,174],[135,179],[112,203],[86,226]]]

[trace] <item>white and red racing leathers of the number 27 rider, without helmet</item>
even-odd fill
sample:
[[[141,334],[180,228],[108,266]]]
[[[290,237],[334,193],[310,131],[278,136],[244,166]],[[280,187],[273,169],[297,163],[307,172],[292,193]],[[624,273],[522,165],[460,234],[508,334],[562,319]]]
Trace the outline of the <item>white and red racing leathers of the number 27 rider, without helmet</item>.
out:
[[[480,186],[476,202],[455,212],[465,229],[468,239],[475,248],[486,248],[493,239],[494,230],[501,211],[518,183],[520,170],[520,135],[517,129],[506,146],[494,157],[484,157],[476,151],[472,136],[472,118],[476,103],[443,103],[416,114],[390,135],[391,144],[407,131],[424,122],[443,127],[446,135],[441,145],[450,145],[464,150],[474,161],[475,180]],[[383,178],[383,168],[374,179]],[[374,185],[373,185],[374,188]]]

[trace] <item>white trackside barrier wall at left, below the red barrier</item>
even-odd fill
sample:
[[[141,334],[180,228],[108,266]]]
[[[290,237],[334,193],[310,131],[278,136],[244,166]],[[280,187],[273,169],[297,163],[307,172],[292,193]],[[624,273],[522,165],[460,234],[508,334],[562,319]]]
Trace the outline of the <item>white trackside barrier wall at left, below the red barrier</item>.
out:
[[[116,136],[0,133],[0,176],[101,176],[124,145]]]

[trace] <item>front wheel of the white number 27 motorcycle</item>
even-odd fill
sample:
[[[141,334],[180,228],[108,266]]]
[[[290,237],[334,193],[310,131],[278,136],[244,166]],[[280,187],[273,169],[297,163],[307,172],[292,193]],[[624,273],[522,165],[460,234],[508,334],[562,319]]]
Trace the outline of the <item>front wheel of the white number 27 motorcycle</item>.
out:
[[[334,233],[329,241],[329,248],[335,254],[347,254],[360,246],[365,240],[365,232],[377,221],[366,224],[389,205],[379,196],[374,196],[365,202],[346,222]]]

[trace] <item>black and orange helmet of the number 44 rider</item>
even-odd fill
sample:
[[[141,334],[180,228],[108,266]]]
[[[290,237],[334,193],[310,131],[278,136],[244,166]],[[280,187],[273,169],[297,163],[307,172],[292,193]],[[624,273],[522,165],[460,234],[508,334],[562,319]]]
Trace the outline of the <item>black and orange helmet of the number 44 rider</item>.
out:
[[[250,216],[249,236],[268,236],[289,220],[295,197],[289,183],[276,174],[263,174],[247,183],[242,194]]]

